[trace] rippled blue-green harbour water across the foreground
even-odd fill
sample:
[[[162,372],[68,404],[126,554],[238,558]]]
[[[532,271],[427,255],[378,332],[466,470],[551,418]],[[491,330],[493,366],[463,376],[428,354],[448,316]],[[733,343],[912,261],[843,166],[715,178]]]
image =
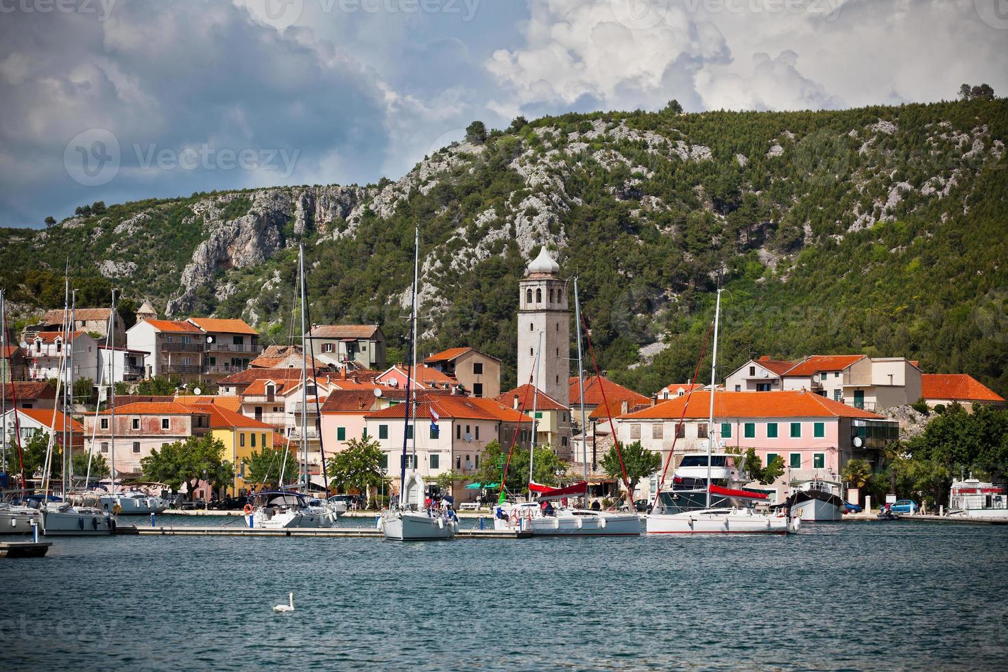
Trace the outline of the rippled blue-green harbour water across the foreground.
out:
[[[0,659],[5,670],[1004,669],[1006,550],[1008,528],[906,522],[792,537],[66,538],[44,559],[0,560]],[[296,611],[274,614],[290,591]]]

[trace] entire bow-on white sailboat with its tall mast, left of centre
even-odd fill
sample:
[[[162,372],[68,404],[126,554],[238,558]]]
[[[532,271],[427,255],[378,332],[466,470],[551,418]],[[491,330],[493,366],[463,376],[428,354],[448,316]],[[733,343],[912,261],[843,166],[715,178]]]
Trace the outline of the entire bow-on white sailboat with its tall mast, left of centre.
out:
[[[395,541],[423,541],[451,539],[459,531],[459,520],[450,504],[433,510],[427,506],[423,479],[416,471],[416,399],[413,390],[413,371],[416,369],[416,283],[420,263],[420,229],[414,231],[413,241],[413,291],[409,314],[410,362],[406,372],[406,407],[402,414],[402,464],[399,478],[399,499],[393,500],[382,512],[378,526],[386,539]],[[406,431],[412,427],[412,432]],[[410,469],[406,471],[408,437],[412,434],[413,451]]]

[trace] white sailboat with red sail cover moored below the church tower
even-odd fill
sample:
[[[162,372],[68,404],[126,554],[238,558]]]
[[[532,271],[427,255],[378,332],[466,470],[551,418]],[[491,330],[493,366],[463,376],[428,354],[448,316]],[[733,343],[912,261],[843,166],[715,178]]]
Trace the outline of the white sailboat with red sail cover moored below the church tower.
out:
[[[582,360],[581,331],[581,301],[578,296],[578,278],[574,279],[575,319],[578,322],[578,380],[581,385],[582,399],[585,398],[585,373]],[[542,350],[542,332],[539,332],[539,353],[536,354],[534,379],[538,382],[539,355]],[[532,417],[535,417],[536,394],[538,387],[533,386]],[[582,426],[582,456],[585,463],[585,479],[566,487],[551,488],[535,483],[532,462],[535,458],[535,435],[532,428],[532,446],[528,465],[529,494],[535,493],[535,499],[529,502],[501,503],[497,507],[498,514],[494,516],[494,528],[498,530],[521,531],[532,536],[639,536],[640,519],[636,513],[615,511],[595,511],[593,509],[578,509],[561,506],[554,508],[552,502],[564,501],[570,498],[584,496],[588,503],[588,437],[584,428],[587,427],[585,405],[581,407]],[[505,466],[505,469],[507,467]],[[506,473],[501,477],[505,483]],[[503,489],[501,493],[503,493]],[[550,504],[543,511],[543,503]]]

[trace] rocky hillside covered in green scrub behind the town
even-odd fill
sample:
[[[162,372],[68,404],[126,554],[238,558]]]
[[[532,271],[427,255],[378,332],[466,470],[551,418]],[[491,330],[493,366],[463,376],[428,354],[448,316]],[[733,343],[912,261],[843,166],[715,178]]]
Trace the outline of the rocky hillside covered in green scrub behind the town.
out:
[[[516,119],[398,181],[196,193],[0,230],[26,318],[149,299],[289,333],[296,246],[311,318],[377,321],[397,357],[419,224],[421,352],[467,344],[514,381],[516,283],[535,248],[579,275],[602,365],[642,392],[691,373],[723,295],[723,370],[856,352],[966,372],[1008,396],[1008,102],[841,112]],[[98,212],[96,212],[98,211]]]

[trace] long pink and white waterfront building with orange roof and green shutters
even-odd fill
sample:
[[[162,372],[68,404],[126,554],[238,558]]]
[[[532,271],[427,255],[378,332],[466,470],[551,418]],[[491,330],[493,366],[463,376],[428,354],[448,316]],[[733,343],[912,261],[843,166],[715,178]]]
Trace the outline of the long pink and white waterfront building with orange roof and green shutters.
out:
[[[705,452],[711,438],[720,450],[755,448],[764,464],[779,455],[786,471],[769,488],[775,491],[776,501],[782,501],[791,481],[839,481],[848,460],[860,457],[875,463],[886,443],[899,439],[895,420],[800,390],[718,392],[711,428],[710,395],[710,391],[698,391],[621,416],[616,429],[620,443],[640,441],[661,454],[662,464],[673,442],[677,464],[684,452]],[[680,417],[684,418],[681,424]],[[672,474],[669,469],[666,481]],[[657,475],[642,484],[643,492],[635,498],[650,496],[656,479]]]

